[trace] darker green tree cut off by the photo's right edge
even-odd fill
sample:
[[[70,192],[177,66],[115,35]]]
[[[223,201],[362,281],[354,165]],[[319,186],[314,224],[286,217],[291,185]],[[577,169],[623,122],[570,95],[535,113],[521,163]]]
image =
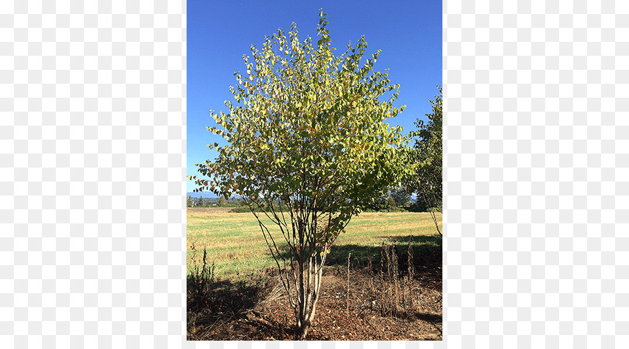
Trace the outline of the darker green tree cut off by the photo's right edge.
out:
[[[435,211],[442,212],[443,207],[443,112],[442,112],[442,88],[438,86],[439,94],[434,100],[429,100],[433,107],[431,114],[426,114],[428,124],[417,119],[415,124],[419,131],[410,133],[411,136],[419,136],[414,144],[414,162],[417,170],[413,177],[405,182],[407,191],[416,193],[419,200],[423,200],[428,211],[431,212],[433,221],[437,226],[437,232],[441,235]]]

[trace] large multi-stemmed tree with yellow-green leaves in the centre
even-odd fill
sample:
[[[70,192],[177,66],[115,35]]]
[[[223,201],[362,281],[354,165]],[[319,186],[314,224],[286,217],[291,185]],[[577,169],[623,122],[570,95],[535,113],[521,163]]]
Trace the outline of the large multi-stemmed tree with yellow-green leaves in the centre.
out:
[[[379,50],[360,64],[364,36],[335,56],[326,16],[319,13],[317,47],[310,37],[300,41],[293,23],[288,38],[278,29],[261,49],[252,45],[253,61],[243,55],[247,73],[234,73],[238,84],[230,87],[238,104],[226,101],[227,113],[210,111],[221,128],[208,130],[229,145],[210,144],[218,157],[197,164],[201,177],[190,176],[197,191],[240,195],[258,219],[294,309],[298,339],[315,316],[333,242],[371,193],[409,172],[402,127],[384,123],[404,108],[393,107],[399,85],[390,85],[388,72],[373,72]]]

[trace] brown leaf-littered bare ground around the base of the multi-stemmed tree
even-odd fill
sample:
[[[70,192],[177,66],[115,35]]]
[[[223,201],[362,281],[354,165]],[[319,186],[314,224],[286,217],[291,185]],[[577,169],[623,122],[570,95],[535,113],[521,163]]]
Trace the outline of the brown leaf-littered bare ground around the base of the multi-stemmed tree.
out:
[[[442,255],[441,251],[433,252],[414,258],[410,268],[405,263],[403,271],[398,271],[397,264],[391,266],[385,254],[379,266],[353,265],[349,268],[349,288],[347,265],[327,267],[306,339],[441,340]],[[397,259],[392,262],[397,263]],[[277,271],[267,269],[245,279],[237,283],[212,280],[199,294],[194,277],[189,278],[188,340],[294,339],[294,313]]]

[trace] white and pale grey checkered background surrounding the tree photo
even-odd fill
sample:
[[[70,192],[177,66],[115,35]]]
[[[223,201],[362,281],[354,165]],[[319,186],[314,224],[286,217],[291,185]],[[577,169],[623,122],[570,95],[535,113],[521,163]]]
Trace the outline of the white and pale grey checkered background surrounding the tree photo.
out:
[[[629,3],[444,3],[435,343],[185,341],[185,13],[0,6],[1,348],[629,347]]]

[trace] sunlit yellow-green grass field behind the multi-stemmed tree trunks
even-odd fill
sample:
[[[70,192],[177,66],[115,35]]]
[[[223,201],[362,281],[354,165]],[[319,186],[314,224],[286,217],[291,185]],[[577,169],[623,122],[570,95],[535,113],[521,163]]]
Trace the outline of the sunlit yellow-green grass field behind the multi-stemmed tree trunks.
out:
[[[438,215],[438,219],[441,220],[441,215]],[[275,228],[270,221],[265,223],[268,228]],[[362,213],[352,218],[345,230],[347,232],[336,240],[326,265],[347,263],[349,252],[352,252],[352,258],[357,262],[366,262],[367,253],[377,253],[376,247],[382,242],[407,244],[411,238],[412,244],[420,246],[441,244],[441,238],[428,213]],[[233,276],[275,265],[258,222],[250,213],[189,208],[188,270],[202,262],[203,248],[207,249],[208,263],[215,264],[215,274],[218,276]]]

